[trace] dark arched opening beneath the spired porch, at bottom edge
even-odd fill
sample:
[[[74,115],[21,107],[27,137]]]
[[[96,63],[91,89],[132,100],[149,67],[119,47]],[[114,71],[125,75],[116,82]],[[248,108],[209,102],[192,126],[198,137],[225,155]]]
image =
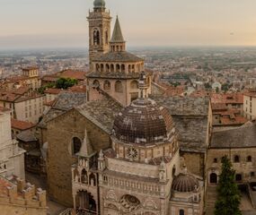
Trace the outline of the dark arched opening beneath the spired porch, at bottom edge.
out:
[[[93,195],[87,191],[76,193],[76,212],[78,214],[96,214],[97,204]]]

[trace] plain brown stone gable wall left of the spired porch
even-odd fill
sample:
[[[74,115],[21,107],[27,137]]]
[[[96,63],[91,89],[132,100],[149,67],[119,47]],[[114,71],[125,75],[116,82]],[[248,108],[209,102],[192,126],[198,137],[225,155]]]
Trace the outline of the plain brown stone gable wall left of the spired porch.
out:
[[[72,139],[84,139],[86,127],[93,150],[99,151],[110,147],[107,133],[93,125],[75,109],[58,116],[49,122],[48,142],[48,185],[49,196],[66,206],[72,206],[72,174],[71,166],[77,162],[72,155]]]

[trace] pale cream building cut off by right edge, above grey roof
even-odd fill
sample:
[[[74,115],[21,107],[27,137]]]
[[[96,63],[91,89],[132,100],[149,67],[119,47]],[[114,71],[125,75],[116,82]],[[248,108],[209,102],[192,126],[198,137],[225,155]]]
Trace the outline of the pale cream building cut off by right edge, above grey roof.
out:
[[[256,119],[256,90],[243,94],[243,113],[249,120]]]

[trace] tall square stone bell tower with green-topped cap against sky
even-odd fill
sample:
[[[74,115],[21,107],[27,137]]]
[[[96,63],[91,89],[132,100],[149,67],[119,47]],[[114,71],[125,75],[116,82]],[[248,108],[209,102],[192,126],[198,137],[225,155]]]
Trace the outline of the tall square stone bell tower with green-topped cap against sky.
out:
[[[94,0],[93,12],[89,11],[89,58],[92,60],[110,50],[110,11],[106,11],[104,0]],[[91,67],[92,69],[92,67]]]

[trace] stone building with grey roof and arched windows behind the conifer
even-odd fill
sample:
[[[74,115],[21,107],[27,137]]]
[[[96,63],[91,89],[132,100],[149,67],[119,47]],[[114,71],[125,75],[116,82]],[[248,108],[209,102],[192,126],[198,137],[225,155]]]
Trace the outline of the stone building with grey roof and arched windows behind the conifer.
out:
[[[255,214],[255,203],[252,187],[256,183],[256,125],[248,123],[242,127],[213,133],[211,142],[207,148],[206,164],[206,211],[207,215],[214,214],[216,202],[216,185],[222,171],[221,159],[227,156],[231,160],[235,170],[235,181],[243,187],[243,194],[249,196],[243,198],[247,203],[245,211]],[[245,188],[244,188],[245,187]],[[246,193],[244,193],[246,191]],[[243,207],[243,205],[241,205]],[[250,212],[249,212],[250,213]]]

